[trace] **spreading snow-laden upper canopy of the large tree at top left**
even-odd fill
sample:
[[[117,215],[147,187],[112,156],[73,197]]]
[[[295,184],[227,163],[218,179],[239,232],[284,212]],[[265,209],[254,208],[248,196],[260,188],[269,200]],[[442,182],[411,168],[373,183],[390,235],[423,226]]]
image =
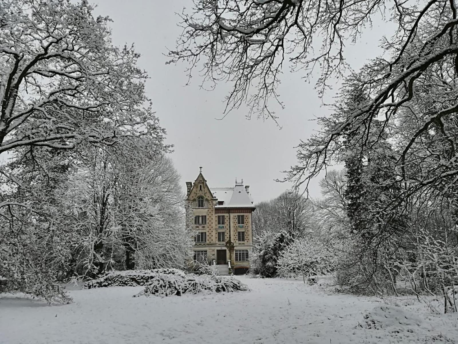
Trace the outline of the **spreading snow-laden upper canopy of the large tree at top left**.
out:
[[[140,55],[113,46],[109,18],[92,12],[87,1],[1,2],[0,153],[146,133],[162,144]]]

